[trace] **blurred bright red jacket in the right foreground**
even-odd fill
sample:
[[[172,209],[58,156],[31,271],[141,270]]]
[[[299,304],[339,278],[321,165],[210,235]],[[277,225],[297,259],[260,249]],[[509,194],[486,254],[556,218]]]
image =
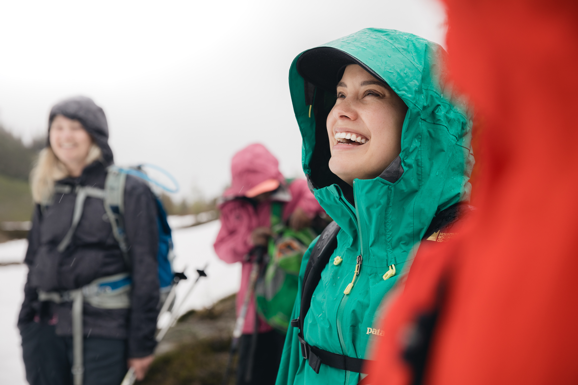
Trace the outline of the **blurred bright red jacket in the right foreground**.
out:
[[[578,2],[446,2],[450,73],[484,120],[479,210],[418,252],[368,382],[576,384]]]

